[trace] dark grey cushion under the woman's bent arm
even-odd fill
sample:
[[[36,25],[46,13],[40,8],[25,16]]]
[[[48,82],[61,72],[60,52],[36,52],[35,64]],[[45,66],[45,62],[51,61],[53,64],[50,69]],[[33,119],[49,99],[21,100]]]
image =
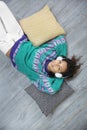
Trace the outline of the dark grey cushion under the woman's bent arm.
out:
[[[42,113],[48,116],[53,110],[69,97],[74,90],[64,82],[61,90],[54,95],[49,95],[39,91],[34,84],[31,84],[25,91],[36,101]]]

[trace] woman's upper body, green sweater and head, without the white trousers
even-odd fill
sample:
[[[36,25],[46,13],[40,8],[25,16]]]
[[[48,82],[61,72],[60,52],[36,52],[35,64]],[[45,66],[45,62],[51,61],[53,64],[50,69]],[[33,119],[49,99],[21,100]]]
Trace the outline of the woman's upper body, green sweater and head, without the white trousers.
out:
[[[73,77],[80,68],[75,56],[68,59],[66,54],[67,43],[63,35],[39,47],[33,46],[23,35],[6,55],[13,66],[31,79],[40,91],[55,94],[64,79]]]

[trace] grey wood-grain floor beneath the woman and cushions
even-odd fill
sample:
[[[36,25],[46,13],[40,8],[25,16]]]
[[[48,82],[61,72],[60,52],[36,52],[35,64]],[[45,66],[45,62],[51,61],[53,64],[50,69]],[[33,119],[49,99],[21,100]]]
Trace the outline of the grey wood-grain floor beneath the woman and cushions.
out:
[[[31,84],[0,52],[0,130],[87,130],[87,0],[3,0],[17,20],[48,4],[67,32],[68,57],[82,56],[81,72],[67,83],[75,93],[45,117],[24,91]]]

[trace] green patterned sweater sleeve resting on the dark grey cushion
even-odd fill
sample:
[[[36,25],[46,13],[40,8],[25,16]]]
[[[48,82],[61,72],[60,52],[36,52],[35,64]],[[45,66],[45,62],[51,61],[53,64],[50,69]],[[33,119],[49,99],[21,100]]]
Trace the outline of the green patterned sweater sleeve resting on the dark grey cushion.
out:
[[[35,86],[40,90],[48,94],[55,94],[60,90],[63,79],[50,78],[45,75],[40,75],[39,79],[34,82]]]

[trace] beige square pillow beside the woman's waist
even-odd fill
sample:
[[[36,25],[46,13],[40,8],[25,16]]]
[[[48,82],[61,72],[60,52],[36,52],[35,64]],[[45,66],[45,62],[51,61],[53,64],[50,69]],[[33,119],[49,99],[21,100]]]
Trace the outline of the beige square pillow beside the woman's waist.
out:
[[[19,22],[34,46],[39,46],[60,34],[65,34],[64,29],[56,21],[47,5],[37,13]]]

